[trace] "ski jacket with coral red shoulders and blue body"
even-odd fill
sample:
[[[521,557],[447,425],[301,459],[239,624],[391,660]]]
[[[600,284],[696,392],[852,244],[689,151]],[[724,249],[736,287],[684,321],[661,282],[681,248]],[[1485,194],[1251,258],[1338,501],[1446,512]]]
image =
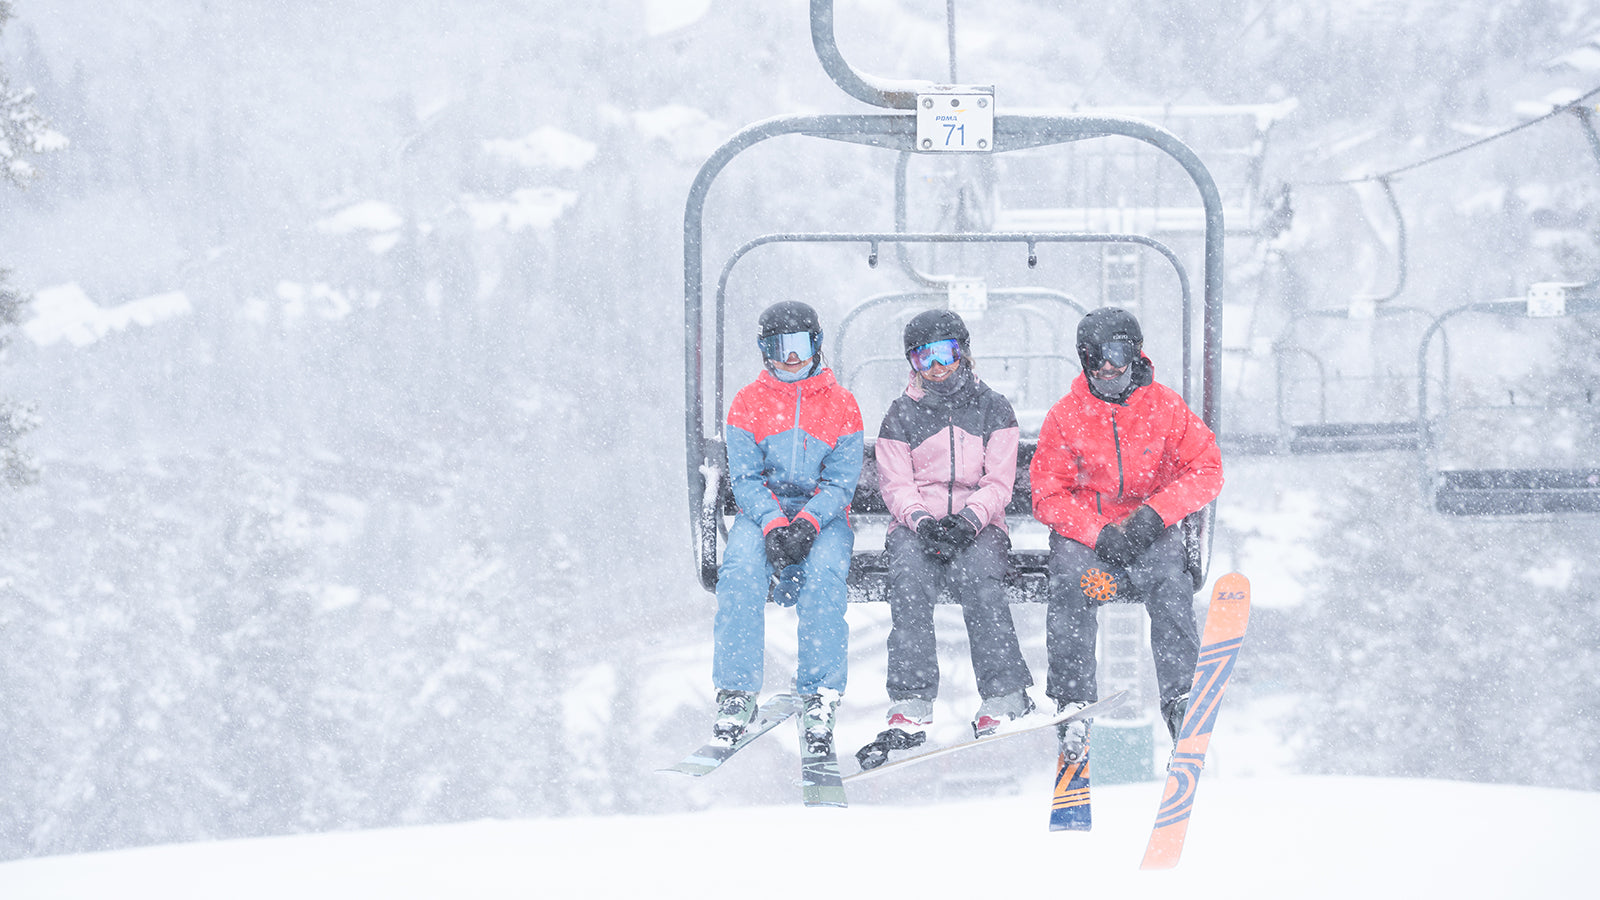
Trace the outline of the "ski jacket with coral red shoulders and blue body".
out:
[[[726,440],[733,500],[763,535],[795,519],[821,532],[850,514],[861,408],[832,370],[792,384],[762,372],[728,405]]]

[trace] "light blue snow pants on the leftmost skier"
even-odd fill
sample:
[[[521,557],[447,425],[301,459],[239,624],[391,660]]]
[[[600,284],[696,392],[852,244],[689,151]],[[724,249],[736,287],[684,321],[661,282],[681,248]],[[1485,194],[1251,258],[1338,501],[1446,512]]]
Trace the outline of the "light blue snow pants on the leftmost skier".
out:
[[[805,559],[805,585],[795,602],[800,617],[795,692],[845,692],[850,626],[845,577],[856,535],[843,517],[822,527]],[[739,516],[717,570],[712,682],[718,690],[760,690],[766,652],[766,588],[771,578],[762,528]]]

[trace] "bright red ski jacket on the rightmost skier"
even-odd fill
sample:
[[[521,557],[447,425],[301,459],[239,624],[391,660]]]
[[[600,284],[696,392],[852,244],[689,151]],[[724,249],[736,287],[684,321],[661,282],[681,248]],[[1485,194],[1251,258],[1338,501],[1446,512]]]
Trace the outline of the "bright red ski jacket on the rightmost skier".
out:
[[[1045,416],[1029,476],[1034,517],[1093,548],[1101,528],[1141,504],[1173,525],[1216,500],[1222,455],[1171,388],[1152,381],[1112,404],[1080,373]]]

